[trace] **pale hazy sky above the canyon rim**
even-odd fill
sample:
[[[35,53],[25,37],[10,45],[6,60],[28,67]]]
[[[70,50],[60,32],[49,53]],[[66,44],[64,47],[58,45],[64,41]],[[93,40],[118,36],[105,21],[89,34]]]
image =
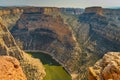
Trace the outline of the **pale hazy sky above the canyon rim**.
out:
[[[0,0],[0,6],[29,5],[49,7],[118,7],[120,0]]]

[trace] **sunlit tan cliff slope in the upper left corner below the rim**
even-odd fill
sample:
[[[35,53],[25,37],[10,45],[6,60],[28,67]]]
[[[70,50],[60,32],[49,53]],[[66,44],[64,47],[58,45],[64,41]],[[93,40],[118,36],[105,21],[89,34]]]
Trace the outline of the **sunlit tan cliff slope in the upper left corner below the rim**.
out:
[[[10,30],[22,13],[23,9],[20,8],[0,9],[0,22]]]

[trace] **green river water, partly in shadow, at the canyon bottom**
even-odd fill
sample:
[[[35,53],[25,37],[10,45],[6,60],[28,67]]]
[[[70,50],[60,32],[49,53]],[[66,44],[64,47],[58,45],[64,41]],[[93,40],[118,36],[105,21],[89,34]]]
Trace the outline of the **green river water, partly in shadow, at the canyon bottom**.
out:
[[[46,71],[46,77],[43,80],[72,80],[63,67],[48,54],[40,52],[29,52],[29,54],[34,58],[39,58],[43,63]]]

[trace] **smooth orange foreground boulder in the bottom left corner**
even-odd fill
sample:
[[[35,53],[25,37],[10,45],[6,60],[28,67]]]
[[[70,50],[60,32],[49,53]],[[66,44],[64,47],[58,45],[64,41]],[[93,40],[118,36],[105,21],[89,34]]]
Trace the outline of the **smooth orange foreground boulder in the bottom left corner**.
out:
[[[27,80],[16,58],[0,56],[0,80]]]

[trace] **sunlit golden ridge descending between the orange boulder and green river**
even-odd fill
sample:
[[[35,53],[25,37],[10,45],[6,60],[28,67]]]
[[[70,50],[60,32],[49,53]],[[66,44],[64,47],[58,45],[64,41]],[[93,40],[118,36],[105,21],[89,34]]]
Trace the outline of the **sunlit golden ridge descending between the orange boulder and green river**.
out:
[[[44,67],[40,60],[33,59],[23,52],[17,46],[8,29],[2,24],[0,24],[0,55],[17,58],[28,80],[42,80],[45,76]]]

